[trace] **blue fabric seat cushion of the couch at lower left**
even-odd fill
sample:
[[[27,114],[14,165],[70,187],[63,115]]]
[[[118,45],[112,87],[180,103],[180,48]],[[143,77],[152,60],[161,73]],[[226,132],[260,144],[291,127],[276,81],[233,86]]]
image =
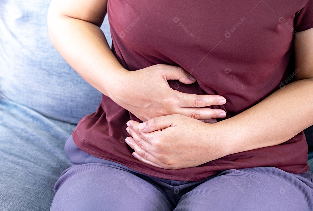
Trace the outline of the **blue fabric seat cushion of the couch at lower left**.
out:
[[[0,98],[0,210],[49,210],[75,126]]]

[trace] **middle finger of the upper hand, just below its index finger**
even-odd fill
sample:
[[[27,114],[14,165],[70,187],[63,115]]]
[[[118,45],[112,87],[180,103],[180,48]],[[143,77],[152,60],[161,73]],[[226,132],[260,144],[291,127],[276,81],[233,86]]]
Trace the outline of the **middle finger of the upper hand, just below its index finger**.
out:
[[[225,118],[226,112],[217,108],[179,108],[179,114],[194,119],[216,119]]]

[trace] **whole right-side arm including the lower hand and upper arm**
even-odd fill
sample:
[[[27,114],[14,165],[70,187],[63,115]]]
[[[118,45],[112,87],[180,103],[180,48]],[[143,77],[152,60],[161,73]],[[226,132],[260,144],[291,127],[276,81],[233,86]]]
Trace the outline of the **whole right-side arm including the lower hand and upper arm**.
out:
[[[297,81],[246,111],[215,124],[168,115],[128,121],[125,139],[143,163],[179,169],[229,154],[284,143],[313,125],[313,29],[295,38]]]

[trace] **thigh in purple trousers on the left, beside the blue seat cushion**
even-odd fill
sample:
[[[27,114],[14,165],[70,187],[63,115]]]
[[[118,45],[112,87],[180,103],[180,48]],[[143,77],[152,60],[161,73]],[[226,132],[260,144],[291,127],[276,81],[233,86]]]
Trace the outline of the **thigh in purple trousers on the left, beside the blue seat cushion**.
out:
[[[55,185],[51,210],[158,210],[172,206],[161,188],[116,166],[75,165]]]

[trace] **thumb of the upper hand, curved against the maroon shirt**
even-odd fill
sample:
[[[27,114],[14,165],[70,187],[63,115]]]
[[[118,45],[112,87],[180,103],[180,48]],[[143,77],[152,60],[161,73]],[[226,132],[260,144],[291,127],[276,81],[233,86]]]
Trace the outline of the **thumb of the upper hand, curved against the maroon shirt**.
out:
[[[182,67],[172,66],[165,73],[166,80],[179,80],[182,83],[190,84],[196,82],[196,78],[194,78],[190,73],[188,73]]]

